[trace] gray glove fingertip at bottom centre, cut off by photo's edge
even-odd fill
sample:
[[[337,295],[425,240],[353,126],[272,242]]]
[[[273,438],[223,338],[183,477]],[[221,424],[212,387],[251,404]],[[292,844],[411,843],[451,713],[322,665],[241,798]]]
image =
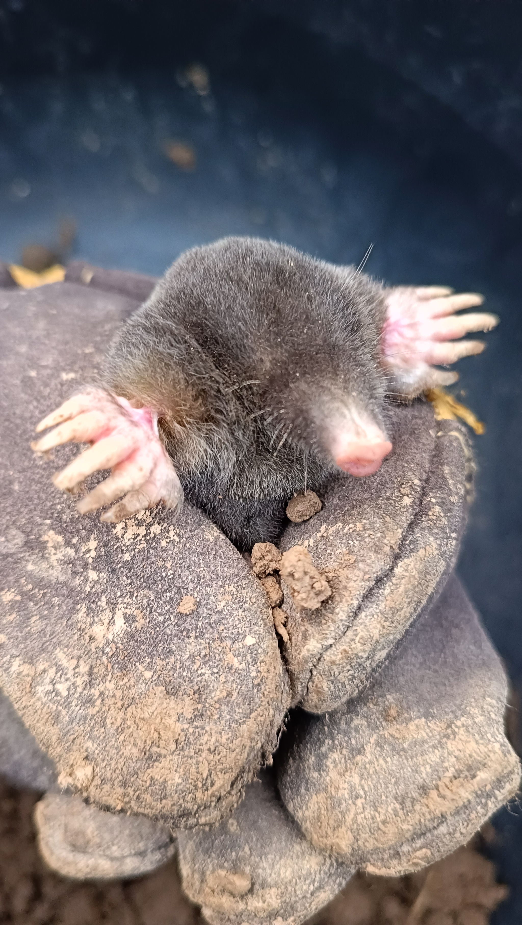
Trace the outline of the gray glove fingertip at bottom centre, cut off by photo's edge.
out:
[[[229,820],[179,833],[179,850],[183,889],[210,925],[297,925],[354,872],[306,840],[267,771]]]

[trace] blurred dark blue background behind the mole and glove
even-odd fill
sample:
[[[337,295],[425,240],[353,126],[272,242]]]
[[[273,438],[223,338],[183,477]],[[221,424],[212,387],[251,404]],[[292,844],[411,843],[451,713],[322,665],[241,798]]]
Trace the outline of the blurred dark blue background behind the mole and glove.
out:
[[[486,424],[459,569],[519,686],[519,4],[0,0],[0,261],[160,275],[226,234],[336,263],[373,243],[371,275],[501,315],[453,389]],[[515,925],[522,811],[495,826],[491,920]]]

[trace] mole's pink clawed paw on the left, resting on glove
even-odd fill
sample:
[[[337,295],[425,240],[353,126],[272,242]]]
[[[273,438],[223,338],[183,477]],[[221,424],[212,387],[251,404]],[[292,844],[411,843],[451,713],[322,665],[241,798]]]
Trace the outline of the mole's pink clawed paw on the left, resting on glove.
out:
[[[168,508],[180,508],[183,503],[180,479],[160,442],[157,415],[151,408],[132,408],[126,399],[90,388],[44,417],[36,431],[47,427],[55,429],[31,443],[36,452],[71,441],[91,444],[54,475],[56,487],[72,491],[93,472],[111,470],[104,482],[79,501],[82,514],[121,498],[101,516],[103,521],[116,523],[159,501]]]

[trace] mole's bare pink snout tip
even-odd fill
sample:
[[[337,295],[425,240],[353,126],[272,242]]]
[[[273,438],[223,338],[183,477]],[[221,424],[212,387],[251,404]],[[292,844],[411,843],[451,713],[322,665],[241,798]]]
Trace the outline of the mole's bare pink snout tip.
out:
[[[392,443],[365,414],[350,409],[329,425],[327,444],[336,465],[350,475],[373,475]]]

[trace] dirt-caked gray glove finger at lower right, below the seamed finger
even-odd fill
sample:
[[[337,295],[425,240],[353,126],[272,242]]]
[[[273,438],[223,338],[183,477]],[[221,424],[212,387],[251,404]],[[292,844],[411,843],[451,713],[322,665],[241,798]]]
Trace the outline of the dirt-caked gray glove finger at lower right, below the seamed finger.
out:
[[[313,845],[372,873],[451,854],[516,793],[506,693],[501,661],[452,576],[361,697],[292,717],[277,760],[285,806]]]

